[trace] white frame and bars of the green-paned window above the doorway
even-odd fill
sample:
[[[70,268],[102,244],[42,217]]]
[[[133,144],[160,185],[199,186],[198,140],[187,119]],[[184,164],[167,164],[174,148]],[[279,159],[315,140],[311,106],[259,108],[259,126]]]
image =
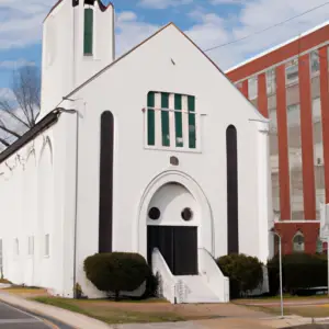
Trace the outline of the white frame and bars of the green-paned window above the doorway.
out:
[[[173,94],[173,93],[170,93]],[[196,102],[196,98],[195,98],[195,109],[197,109],[197,102]],[[155,128],[155,133],[156,133],[156,145],[148,145],[148,115],[147,112],[148,110],[154,110],[156,113],[156,128]],[[161,124],[161,112],[166,111],[169,112],[169,134],[170,134],[170,146],[162,146],[162,135],[161,135],[161,129],[157,129],[157,123]],[[202,124],[202,116],[204,116],[204,114],[200,114],[196,111],[195,112],[189,112],[189,111],[184,111],[184,110],[174,110],[174,109],[162,109],[162,107],[150,107],[150,106],[145,106],[144,110],[144,148],[145,149],[149,149],[149,150],[160,150],[160,151],[175,151],[175,152],[191,152],[191,154],[201,154],[201,124]],[[189,136],[189,131],[184,129],[183,126],[183,139],[184,139],[184,144],[183,147],[177,147],[175,146],[175,138],[174,138],[174,134],[172,135],[172,132],[175,132],[175,126],[174,126],[174,113],[179,112],[182,113],[182,121],[183,123],[188,121],[189,123],[189,115],[190,114],[194,114],[195,115],[195,148],[190,148],[189,147],[189,138],[184,138],[184,135],[188,134]],[[157,121],[157,117],[159,118]],[[161,126],[161,125],[160,125]],[[188,124],[189,126],[189,124]],[[174,141],[174,145],[171,145],[171,143]]]

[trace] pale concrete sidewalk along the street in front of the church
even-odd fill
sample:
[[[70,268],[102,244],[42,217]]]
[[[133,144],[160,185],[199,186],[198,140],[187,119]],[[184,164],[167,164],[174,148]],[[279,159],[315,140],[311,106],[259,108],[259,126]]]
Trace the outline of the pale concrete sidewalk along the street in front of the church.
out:
[[[0,291],[0,299],[4,303],[23,308],[27,311],[41,316],[58,319],[68,326],[77,329],[269,329],[269,328],[291,328],[311,324],[309,318],[298,316],[279,319],[277,317],[268,316],[263,313],[256,313],[246,307],[232,304],[216,305],[222,318],[211,320],[195,320],[186,322],[166,322],[166,324],[140,324],[140,325],[106,325],[97,319],[87,317],[81,314],[72,313],[66,309],[57,308],[50,305],[27,300],[22,297]],[[214,307],[215,305],[209,305]],[[322,321],[317,319],[316,321]]]

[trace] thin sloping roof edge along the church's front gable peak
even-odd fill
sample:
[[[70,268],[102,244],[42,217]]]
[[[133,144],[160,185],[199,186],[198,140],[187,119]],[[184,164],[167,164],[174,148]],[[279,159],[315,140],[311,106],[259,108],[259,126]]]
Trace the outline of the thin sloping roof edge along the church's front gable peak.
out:
[[[182,32],[174,23],[170,22],[167,25],[162,26],[160,30],[158,30],[156,33],[154,33],[151,36],[149,36],[148,38],[144,39],[141,43],[139,43],[138,45],[136,45],[134,48],[132,48],[131,50],[128,50],[127,53],[125,53],[124,55],[122,55],[121,57],[118,57],[116,60],[112,61],[110,65],[105,66],[102,70],[100,70],[98,73],[93,75],[91,78],[89,78],[87,81],[84,81],[83,83],[81,83],[79,87],[77,87],[75,90],[72,90],[68,95],[66,95],[64,99],[70,98],[72,94],[75,94],[77,91],[79,91],[81,88],[83,88],[84,86],[87,86],[89,82],[91,82],[93,79],[98,78],[99,76],[101,76],[103,72],[105,72],[106,70],[109,70],[110,68],[112,68],[114,65],[116,65],[118,61],[121,61],[123,58],[127,57],[129,54],[132,54],[133,52],[135,52],[137,48],[139,48],[140,46],[143,46],[145,43],[147,43],[148,41],[150,41],[151,38],[154,38],[155,36],[157,36],[159,33],[161,33],[163,30],[168,29],[169,26],[173,26],[175,27],[188,41],[190,41],[190,43],[192,43],[194,45],[194,47],[201,52],[203,54],[203,56],[205,56],[213,65],[214,67],[225,77],[224,71],[215,64],[214,60],[212,60],[184,32]],[[227,81],[229,81],[229,83],[231,83],[231,81],[229,79],[227,79]],[[231,83],[232,84],[232,83]]]

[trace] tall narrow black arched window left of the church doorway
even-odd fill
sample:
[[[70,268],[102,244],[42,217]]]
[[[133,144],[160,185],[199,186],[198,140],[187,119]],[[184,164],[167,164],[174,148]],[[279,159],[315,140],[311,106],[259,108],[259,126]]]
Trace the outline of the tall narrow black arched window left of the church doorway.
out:
[[[99,252],[112,252],[114,118],[101,116]]]

